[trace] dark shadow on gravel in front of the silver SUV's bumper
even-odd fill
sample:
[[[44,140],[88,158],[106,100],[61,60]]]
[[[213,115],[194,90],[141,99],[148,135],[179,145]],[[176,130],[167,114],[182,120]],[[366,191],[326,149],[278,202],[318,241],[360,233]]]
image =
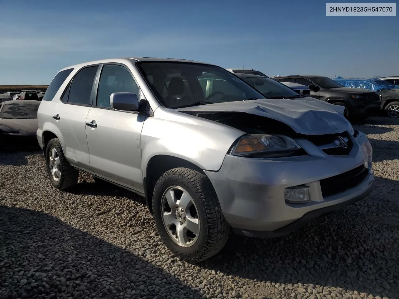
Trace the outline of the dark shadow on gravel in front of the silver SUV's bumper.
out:
[[[399,181],[376,177],[371,196],[355,205],[279,238],[232,235],[201,266],[288,286],[313,284],[321,293],[320,287],[334,287],[399,298],[398,190]]]

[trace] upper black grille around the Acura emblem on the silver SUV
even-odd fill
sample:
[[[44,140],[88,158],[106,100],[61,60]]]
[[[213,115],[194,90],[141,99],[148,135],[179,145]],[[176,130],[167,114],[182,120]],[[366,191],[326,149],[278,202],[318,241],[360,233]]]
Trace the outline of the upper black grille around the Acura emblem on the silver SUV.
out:
[[[338,142],[338,137],[344,138],[348,144],[347,148],[342,148]],[[312,142],[315,146],[318,146],[327,155],[346,156],[349,155],[353,148],[352,140],[347,132],[339,134],[327,134],[327,135],[312,135],[306,136],[306,139]]]

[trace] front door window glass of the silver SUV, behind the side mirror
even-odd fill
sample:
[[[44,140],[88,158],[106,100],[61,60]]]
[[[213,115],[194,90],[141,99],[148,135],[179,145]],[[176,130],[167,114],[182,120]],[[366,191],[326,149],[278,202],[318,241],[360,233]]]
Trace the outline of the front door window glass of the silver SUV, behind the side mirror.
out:
[[[111,107],[109,97],[113,92],[138,94],[138,86],[125,67],[121,65],[104,65],[97,92],[97,106]]]

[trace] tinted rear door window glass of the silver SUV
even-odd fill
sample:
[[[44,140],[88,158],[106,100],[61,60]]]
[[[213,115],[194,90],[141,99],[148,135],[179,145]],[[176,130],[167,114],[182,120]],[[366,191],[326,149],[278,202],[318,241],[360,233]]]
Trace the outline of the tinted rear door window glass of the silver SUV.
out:
[[[72,79],[70,87],[68,87],[69,94],[66,92],[63,96],[65,102],[66,96],[68,103],[71,104],[91,104],[91,90],[93,88],[94,78],[96,76],[98,65],[93,67],[85,67],[81,69]]]

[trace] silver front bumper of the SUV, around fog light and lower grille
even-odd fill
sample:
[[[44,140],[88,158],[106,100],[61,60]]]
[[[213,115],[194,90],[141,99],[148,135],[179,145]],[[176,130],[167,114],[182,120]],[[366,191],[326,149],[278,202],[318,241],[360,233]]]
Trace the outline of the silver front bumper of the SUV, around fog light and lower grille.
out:
[[[307,222],[328,210],[337,210],[365,197],[372,188],[372,151],[363,147],[367,137],[353,138],[348,156],[332,156],[307,140],[300,141],[309,155],[276,159],[251,159],[227,155],[217,172],[205,171],[213,183],[223,214],[235,232],[247,236],[279,236],[300,222]],[[320,180],[340,175],[364,165],[362,181],[342,192],[323,197]],[[288,203],[288,187],[306,185],[311,200]],[[300,220],[302,218],[302,220]],[[295,224],[296,223],[296,224]],[[291,225],[290,225],[291,224]],[[290,226],[289,226],[290,225]]]

